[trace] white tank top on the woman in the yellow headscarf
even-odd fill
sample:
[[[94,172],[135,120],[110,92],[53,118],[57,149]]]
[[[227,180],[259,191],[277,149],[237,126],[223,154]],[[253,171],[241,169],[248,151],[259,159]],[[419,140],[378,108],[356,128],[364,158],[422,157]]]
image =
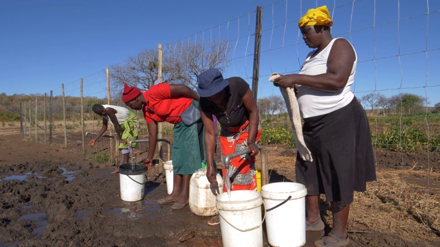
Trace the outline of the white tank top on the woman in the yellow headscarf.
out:
[[[320,75],[322,73],[327,73],[327,59],[333,47],[333,43],[337,38],[333,38],[329,45],[325,47],[319,54],[314,58],[310,58],[316,50],[311,51],[301,67],[300,74],[303,75]],[[353,48],[354,50],[354,48]],[[325,115],[338,110],[344,106],[347,106],[354,95],[351,92],[351,84],[355,80],[356,64],[358,63],[358,55],[355,51],[355,62],[353,62],[353,68],[351,69],[350,77],[347,85],[344,89],[339,89],[337,91],[323,91],[320,89],[314,89],[309,86],[303,86],[301,84],[296,84],[296,89],[298,93],[296,97],[298,98],[298,105],[300,107],[300,113],[303,118],[316,117],[319,115]]]

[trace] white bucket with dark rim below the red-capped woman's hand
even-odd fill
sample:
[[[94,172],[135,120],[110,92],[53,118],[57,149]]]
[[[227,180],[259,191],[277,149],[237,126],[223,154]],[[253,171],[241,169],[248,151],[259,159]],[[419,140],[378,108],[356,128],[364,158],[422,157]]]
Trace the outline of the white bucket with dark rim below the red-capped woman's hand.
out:
[[[119,166],[121,199],[135,202],[144,198],[146,166],[128,163]]]

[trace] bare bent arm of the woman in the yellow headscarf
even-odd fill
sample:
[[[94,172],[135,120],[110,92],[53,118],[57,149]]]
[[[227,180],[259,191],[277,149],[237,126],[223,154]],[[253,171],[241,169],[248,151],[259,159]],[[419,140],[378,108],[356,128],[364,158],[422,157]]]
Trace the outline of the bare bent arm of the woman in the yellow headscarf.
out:
[[[343,89],[347,85],[355,59],[355,51],[349,41],[338,38],[331,47],[326,73],[320,75],[281,75],[274,82],[284,88],[302,84],[325,91]]]

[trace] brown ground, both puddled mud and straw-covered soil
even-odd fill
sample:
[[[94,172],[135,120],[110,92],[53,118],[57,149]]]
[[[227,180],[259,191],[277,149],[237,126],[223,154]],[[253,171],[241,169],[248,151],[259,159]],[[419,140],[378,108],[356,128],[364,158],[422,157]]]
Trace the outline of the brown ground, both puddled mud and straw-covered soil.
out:
[[[222,246],[210,217],[157,204],[166,196],[159,165],[147,172],[144,200],[124,202],[114,167],[23,139],[13,126],[0,141],[0,246]],[[263,148],[270,183],[294,181],[294,152]],[[350,246],[440,246],[440,156],[376,150],[375,158],[378,180],[351,206]],[[307,232],[305,246],[330,230],[325,198],[321,213],[325,231]]]

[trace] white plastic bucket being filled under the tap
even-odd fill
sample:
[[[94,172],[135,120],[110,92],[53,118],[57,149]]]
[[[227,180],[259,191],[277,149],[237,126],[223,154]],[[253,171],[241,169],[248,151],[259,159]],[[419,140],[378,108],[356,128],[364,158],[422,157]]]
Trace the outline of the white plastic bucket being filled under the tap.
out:
[[[257,191],[222,193],[216,198],[220,215],[221,240],[228,247],[262,247],[261,204]]]

